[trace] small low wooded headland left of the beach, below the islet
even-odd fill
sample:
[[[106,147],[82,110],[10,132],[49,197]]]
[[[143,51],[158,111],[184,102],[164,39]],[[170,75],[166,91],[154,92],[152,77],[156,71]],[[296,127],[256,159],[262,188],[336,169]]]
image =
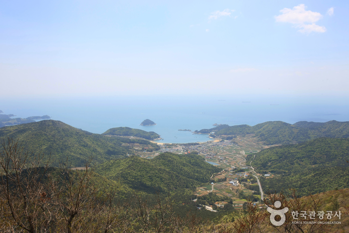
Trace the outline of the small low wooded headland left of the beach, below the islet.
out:
[[[147,132],[141,129],[129,128],[129,127],[110,128],[105,132],[103,132],[102,134],[113,135],[113,136],[137,136],[137,137],[142,137],[148,140],[153,140],[155,138],[160,137],[159,134],[153,131]]]

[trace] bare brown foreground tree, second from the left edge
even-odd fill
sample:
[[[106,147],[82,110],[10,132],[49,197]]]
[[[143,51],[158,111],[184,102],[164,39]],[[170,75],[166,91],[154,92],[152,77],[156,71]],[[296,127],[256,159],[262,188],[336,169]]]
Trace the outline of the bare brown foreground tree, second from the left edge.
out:
[[[60,175],[49,175],[53,204],[58,209],[57,225],[68,233],[106,233],[115,228],[126,232],[132,226],[126,222],[129,205],[115,201],[117,187],[105,188],[105,179],[93,181],[91,161],[90,158],[82,170],[60,163]]]

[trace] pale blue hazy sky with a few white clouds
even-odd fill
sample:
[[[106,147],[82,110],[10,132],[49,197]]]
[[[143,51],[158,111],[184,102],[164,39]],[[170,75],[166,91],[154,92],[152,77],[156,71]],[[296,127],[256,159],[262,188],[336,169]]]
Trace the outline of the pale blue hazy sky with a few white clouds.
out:
[[[349,1],[1,0],[0,98],[349,97]]]

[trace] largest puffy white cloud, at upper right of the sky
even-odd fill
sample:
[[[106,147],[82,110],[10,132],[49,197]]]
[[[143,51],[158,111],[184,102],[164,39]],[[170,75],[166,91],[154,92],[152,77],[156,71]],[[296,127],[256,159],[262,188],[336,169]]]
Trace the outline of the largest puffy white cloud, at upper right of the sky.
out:
[[[325,32],[326,27],[315,24],[323,15],[319,12],[306,10],[306,8],[307,6],[304,4],[299,4],[293,9],[283,8],[280,10],[282,14],[275,16],[275,19],[277,22],[290,22],[296,28],[300,28],[298,31],[303,33]]]

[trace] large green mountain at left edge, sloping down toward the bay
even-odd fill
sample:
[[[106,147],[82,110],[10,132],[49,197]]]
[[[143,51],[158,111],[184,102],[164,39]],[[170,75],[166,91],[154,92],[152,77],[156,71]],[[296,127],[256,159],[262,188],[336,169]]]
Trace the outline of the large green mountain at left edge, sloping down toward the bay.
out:
[[[90,156],[101,163],[110,159],[125,157],[131,151],[123,143],[152,144],[146,140],[108,137],[90,133],[57,120],[42,120],[0,128],[0,138],[19,140],[24,151],[39,150],[46,155],[51,153],[52,165],[66,160],[72,166],[81,166]]]

